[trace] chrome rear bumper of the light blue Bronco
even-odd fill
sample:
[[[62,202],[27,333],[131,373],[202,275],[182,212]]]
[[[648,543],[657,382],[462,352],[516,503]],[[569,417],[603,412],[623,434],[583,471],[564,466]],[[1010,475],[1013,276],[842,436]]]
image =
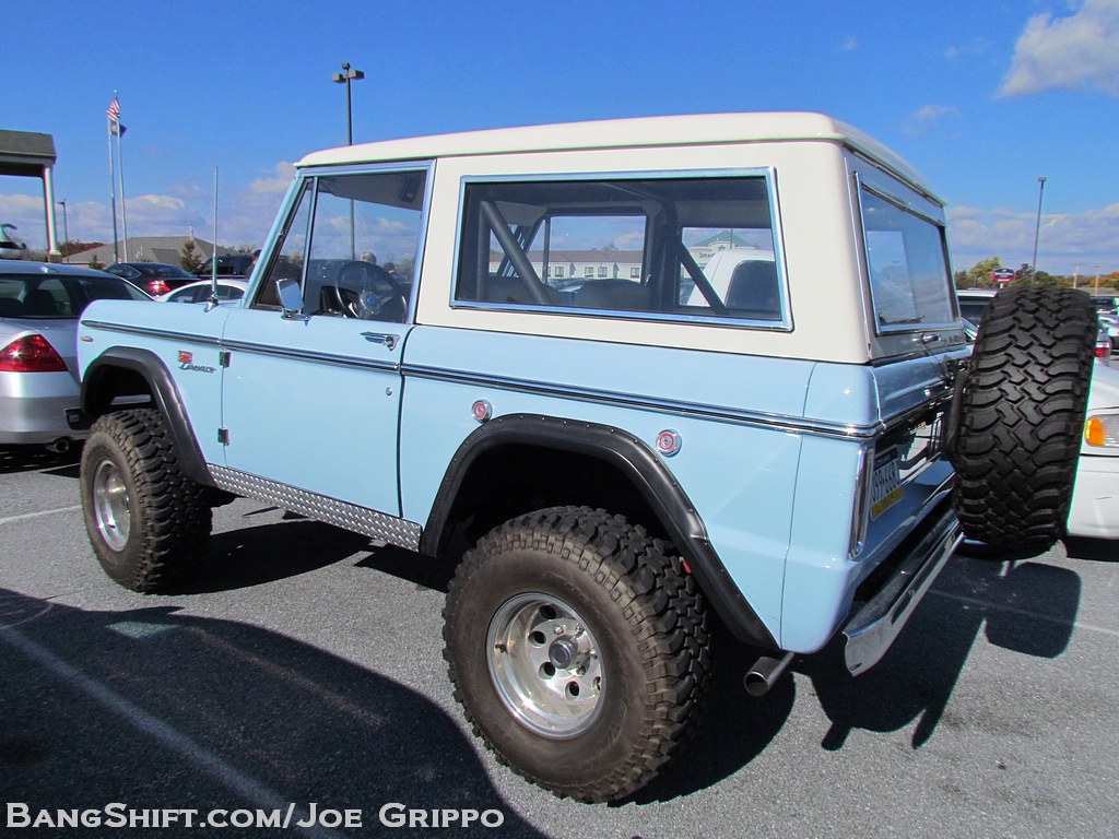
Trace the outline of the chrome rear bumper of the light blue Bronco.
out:
[[[901,545],[901,557],[887,563],[892,572],[875,592],[864,595],[843,628],[852,673],[871,669],[886,653],[962,539],[952,506],[946,501]]]

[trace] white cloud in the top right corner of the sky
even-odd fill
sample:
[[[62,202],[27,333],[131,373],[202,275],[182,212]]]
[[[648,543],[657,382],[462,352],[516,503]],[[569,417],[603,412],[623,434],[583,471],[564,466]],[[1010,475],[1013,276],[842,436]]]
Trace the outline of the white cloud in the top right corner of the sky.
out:
[[[1084,0],[1071,17],[1045,13],[1026,22],[996,95],[1054,88],[1119,96],[1119,0]]]

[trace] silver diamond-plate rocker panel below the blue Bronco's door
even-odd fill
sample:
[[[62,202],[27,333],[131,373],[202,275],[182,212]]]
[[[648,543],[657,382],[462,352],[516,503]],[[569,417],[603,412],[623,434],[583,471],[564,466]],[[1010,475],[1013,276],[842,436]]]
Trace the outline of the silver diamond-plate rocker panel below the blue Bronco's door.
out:
[[[236,469],[219,466],[215,463],[209,463],[208,466],[214,482],[219,489],[227,492],[274,503],[285,510],[292,510],[317,521],[363,534],[388,545],[396,545],[408,550],[420,549],[420,536],[423,528],[415,521],[370,510],[366,507],[358,507],[285,483],[270,481],[266,478],[258,478]]]

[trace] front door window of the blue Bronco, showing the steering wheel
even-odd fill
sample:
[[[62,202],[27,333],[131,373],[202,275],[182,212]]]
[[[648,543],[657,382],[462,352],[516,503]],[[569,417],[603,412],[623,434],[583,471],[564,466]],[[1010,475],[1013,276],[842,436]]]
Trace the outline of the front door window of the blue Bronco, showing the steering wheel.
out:
[[[401,323],[415,284],[426,172],[323,176],[309,181],[269,266],[300,280],[309,312]],[[272,290],[270,292],[270,289]]]

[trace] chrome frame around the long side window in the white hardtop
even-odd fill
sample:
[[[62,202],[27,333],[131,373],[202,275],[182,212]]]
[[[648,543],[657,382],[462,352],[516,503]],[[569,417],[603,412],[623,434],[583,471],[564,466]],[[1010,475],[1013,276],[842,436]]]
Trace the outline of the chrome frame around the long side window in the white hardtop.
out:
[[[690,314],[684,312],[650,312],[630,309],[580,309],[565,305],[542,305],[539,303],[508,303],[486,300],[459,300],[455,295],[459,287],[459,274],[462,266],[463,235],[467,218],[467,188],[474,183],[495,185],[513,182],[558,183],[570,181],[620,181],[620,180],[702,180],[702,179],[745,179],[762,178],[765,181],[765,196],[770,207],[770,232],[773,236],[773,260],[777,268],[781,299],[780,320],[756,320],[747,318],[725,318],[712,314]],[[595,318],[608,320],[650,321],[660,323],[686,323],[754,331],[792,332],[792,303],[789,294],[789,275],[786,268],[784,230],[781,226],[781,206],[778,200],[777,168],[750,167],[731,169],[656,169],[626,171],[580,171],[580,172],[529,172],[518,175],[469,175],[459,181],[458,219],[454,229],[454,275],[451,282],[450,301],[452,309],[527,312],[530,314],[556,314],[561,317]]]

